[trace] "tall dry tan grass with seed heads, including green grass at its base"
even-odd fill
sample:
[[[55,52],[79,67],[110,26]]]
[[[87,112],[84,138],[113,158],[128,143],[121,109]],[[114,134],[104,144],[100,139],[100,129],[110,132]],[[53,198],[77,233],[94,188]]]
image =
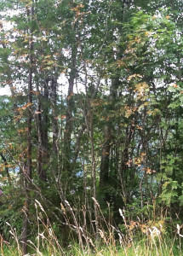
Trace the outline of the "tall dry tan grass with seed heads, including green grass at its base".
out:
[[[95,199],[93,198],[95,201]],[[142,223],[138,221],[128,221],[125,212],[119,209],[122,218],[122,225],[117,227],[112,222],[112,213],[109,207],[109,216],[106,219],[97,201],[95,204],[99,212],[99,230],[94,229],[92,214],[90,219],[86,219],[86,207],[83,207],[83,218],[80,213],[73,209],[68,201],[65,206],[61,205],[61,210],[65,218],[65,225],[70,230],[68,244],[63,246],[62,241],[54,232],[53,225],[49,221],[47,212],[39,201],[35,201],[37,236],[27,241],[30,253],[28,255],[54,256],[54,255],[146,255],[146,256],[177,256],[183,255],[181,252],[180,225],[173,234],[169,236],[164,219],[159,222]],[[87,222],[90,221],[90,229]],[[17,235],[17,231],[11,224],[9,232],[12,236],[11,242],[4,241],[1,236],[1,255],[2,256],[22,256],[22,241]],[[35,227],[34,227],[35,228]],[[65,230],[60,229],[60,232]],[[98,232],[99,241],[95,241],[94,232]],[[67,233],[68,234],[68,233]],[[66,234],[66,236],[67,236]]]

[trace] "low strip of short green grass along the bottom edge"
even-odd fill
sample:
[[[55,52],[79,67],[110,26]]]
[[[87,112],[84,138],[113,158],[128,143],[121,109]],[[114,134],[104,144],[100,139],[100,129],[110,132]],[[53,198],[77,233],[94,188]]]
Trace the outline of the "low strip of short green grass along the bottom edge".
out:
[[[68,247],[63,247],[62,252],[57,247],[40,247],[39,252],[37,247],[29,247],[28,255],[34,256],[179,256],[182,255],[180,249],[180,241],[170,240],[167,238],[160,244],[159,241],[138,241],[129,242],[129,245],[122,247],[120,244],[113,246],[111,244],[104,246],[94,246],[93,248],[79,247],[78,244],[73,244]],[[1,245],[1,256],[19,256],[22,255],[20,248],[15,244]]]

